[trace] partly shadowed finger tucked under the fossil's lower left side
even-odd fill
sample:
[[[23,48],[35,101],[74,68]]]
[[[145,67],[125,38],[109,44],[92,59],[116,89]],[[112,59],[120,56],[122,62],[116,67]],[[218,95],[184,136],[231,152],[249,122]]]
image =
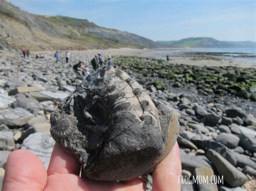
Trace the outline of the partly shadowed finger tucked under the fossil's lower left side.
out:
[[[79,175],[80,167],[81,164],[77,158],[65,152],[57,143],[55,144],[47,171],[48,176],[52,174]]]

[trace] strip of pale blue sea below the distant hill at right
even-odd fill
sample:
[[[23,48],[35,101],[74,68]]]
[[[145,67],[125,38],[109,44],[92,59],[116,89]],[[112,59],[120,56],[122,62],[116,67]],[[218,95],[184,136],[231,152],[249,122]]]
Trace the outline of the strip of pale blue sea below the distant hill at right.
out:
[[[218,58],[239,60],[256,64],[255,48],[157,48],[152,49],[158,56],[158,59],[165,59],[168,54],[186,53],[186,52],[208,52],[221,53]],[[165,55],[165,56],[163,56]]]

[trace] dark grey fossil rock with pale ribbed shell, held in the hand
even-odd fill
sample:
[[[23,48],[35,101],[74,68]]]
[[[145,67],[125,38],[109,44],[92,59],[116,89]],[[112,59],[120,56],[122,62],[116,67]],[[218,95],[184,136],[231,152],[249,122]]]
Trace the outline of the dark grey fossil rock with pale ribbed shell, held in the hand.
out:
[[[51,135],[95,180],[130,180],[156,166],[176,142],[173,112],[122,70],[91,73],[51,115]]]

